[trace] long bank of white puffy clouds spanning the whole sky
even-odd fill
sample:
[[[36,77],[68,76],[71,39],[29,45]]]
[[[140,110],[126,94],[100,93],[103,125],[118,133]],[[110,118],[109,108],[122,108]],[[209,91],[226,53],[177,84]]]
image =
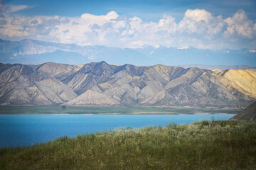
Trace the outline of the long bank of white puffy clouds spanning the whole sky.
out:
[[[223,18],[204,9],[188,9],[178,23],[169,15],[162,16],[158,22],[144,22],[137,16],[119,16],[115,11],[101,16],[84,13],[80,17],[23,17],[4,13],[0,25],[0,38],[9,40],[33,38],[111,47],[145,44],[200,48],[235,48],[242,44],[245,47],[254,45],[250,42],[256,32],[255,21],[247,18],[242,10]]]

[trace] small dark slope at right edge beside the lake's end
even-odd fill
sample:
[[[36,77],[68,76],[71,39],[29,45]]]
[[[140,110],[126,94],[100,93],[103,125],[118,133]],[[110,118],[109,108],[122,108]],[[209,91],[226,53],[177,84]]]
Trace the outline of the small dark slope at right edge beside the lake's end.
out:
[[[245,108],[230,120],[256,120],[256,102]]]

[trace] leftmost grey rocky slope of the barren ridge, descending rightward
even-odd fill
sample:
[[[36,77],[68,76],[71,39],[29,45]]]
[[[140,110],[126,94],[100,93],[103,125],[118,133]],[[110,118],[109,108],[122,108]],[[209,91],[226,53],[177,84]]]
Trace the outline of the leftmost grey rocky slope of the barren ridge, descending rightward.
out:
[[[33,68],[35,67],[35,68]],[[3,105],[50,105],[70,101],[77,94],[42,66],[1,64],[0,103]]]

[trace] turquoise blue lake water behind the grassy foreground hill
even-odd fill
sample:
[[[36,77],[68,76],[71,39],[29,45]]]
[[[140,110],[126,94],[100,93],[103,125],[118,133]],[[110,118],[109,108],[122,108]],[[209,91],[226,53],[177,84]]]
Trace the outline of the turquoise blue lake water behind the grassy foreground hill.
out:
[[[233,115],[0,115],[0,147],[35,145],[57,137],[75,137],[117,128],[228,120]]]

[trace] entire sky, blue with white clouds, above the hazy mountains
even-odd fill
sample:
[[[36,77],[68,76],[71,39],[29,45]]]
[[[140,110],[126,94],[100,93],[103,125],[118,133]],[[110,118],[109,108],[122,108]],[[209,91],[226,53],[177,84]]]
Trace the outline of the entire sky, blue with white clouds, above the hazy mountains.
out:
[[[0,0],[0,38],[256,50],[255,0]]]

